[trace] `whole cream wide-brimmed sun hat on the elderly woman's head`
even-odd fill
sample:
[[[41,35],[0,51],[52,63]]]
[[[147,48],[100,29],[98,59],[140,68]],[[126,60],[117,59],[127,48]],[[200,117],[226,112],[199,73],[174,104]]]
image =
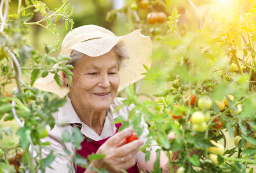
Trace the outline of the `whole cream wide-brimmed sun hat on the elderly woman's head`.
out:
[[[107,54],[117,43],[122,42],[127,47],[129,59],[123,62],[125,67],[119,70],[118,90],[120,91],[124,86],[133,84],[144,77],[141,75],[146,72],[143,65],[151,66],[152,42],[150,37],[142,35],[140,31],[141,29],[137,29],[127,35],[117,37],[108,29],[96,25],[84,25],[73,29],[65,36],[61,54],[70,56],[72,50],[76,50],[89,57],[99,57]],[[34,87],[56,93],[60,97],[70,92],[68,86],[61,87],[56,83],[52,73],[36,80]]]

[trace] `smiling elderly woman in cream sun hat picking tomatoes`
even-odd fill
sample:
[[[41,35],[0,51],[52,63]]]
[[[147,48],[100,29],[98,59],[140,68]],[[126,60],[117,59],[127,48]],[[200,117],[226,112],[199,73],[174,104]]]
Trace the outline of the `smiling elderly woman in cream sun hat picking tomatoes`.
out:
[[[65,36],[61,54],[72,58],[66,63],[74,66],[71,85],[68,85],[64,73],[61,74],[62,88],[50,75],[39,78],[34,85],[43,91],[67,97],[67,103],[54,114],[56,125],[43,139],[51,145],[49,149],[43,150],[42,155],[46,156],[50,150],[56,152],[56,159],[50,165],[52,169],[47,168],[46,172],[69,172],[70,169],[72,172],[94,172],[91,168],[104,168],[108,172],[146,172],[153,169],[156,149],[159,149],[156,142],[151,144],[151,156],[147,163],[144,153],[139,151],[149,134],[144,119],[140,123],[144,127],[140,139],[128,144],[125,139],[133,134],[133,129],[126,128],[118,132],[121,124],[112,123],[119,116],[128,119],[134,106],[114,112],[124,100],[116,97],[116,93],[123,85],[143,77],[140,75],[144,72],[142,64],[151,65],[151,51],[151,39],[141,35],[139,30],[116,37],[105,28],[85,25]],[[74,126],[78,126],[85,136],[80,150],[68,142],[61,142],[63,131],[72,133]],[[65,153],[65,150],[70,154]],[[92,153],[105,157],[92,161],[86,170],[72,163],[75,153],[85,158]],[[169,160],[163,152],[160,154],[160,166],[164,171],[170,171]]]

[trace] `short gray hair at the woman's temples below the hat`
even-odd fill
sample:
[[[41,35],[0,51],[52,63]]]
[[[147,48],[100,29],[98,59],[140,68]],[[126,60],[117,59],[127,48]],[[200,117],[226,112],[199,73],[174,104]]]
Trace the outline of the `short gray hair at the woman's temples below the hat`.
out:
[[[118,42],[118,44],[116,44],[113,49],[116,52],[116,55],[118,55],[118,68],[122,68],[125,67],[125,65],[123,64],[123,61],[125,59],[129,59],[129,55],[127,52],[127,47],[122,43],[122,42]],[[70,58],[72,58],[71,60],[68,60],[66,65],[72,65],[74,68],[83,60],[83,56],[85,54],[83,54],[82,52],[76,51],[76,50],[72,50]],[[71,69],[72,71],[72,69]]]

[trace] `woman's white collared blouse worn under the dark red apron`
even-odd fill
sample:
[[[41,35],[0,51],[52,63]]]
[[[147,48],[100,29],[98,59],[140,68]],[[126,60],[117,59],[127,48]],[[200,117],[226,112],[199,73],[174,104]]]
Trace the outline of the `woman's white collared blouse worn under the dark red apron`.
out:
[[[49,146],[46,146],[46,148],[42,149],[42,157],[46,157],[47,155],[49,155],[50,151],[53,151],[55,156],[54,161],[52,162],[52,164],[50,164],[50,167],[52,167],[53,169],[46,168],[46,173],[76,172],[76,165],[72,162],[72,158],[75,156],[75,146],[73,146],[71,142],[61,142],[61,134],[64,130],[67,130],[70,134],[72,134],[73,127],[70,124],[79,123],[82,125],[81,133],[85,135],[88,142],[103,140],[104,138],[112,136],[116,131],[116,126],[111,122],[114,121],[115,118],[118,118],[118,116],[123,116],[127,120],[129,117],[129,112],[134,108],[134,105],[130,105],[129,107],[125,106],[114,112],[114,110],[120,104],[123,104],[122,100],[124,99],[119,97],[116,97],[114,99],[113,103],[108,108],[103,130],[100,136],[98,136],[98,134],[93,131],[89,126],[81,122],[71,104],[70,98],[67,97],[67,102],[64,104],[64,106],[58,108],[58,112],[55,112],[53,114],[56,125],[52,130],[50,130],[50,127],[48,126],[48,136],[41,140],[42,142],[50,142],[51,144]],[[114,113],[111,114],[111,112]],[[149,131],[147,129],[148,125],[145,123],[143,116],[141,118],[140,126],[144,127],[140,139],[145,143],[148,140]],[[155,152],[156,149],[159,149],[159,146],[156,144],[155,141],[152,140],[151,153]],[[65,153],[64,150],[70,152],[70,155]],[[145,154],[139,151],[136,155],[137,163],[140,163],[140,161],[143,160],[144,157]]]

